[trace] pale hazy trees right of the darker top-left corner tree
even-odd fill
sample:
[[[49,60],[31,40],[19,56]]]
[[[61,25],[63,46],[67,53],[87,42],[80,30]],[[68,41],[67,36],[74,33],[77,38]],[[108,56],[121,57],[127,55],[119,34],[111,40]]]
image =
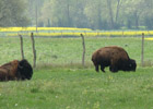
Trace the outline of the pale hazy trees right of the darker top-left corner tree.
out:
[[[46,0],[45,2],[38,0],[37,2],[40,26],[48,26],[49,21],[49,26],[58,27],[119,29],[127,26],[130,29],[139,29],[140,26],[145,26],[146,29],[152,29],[150,26],[152,22],[146,22],[153,17],[152,0]]]

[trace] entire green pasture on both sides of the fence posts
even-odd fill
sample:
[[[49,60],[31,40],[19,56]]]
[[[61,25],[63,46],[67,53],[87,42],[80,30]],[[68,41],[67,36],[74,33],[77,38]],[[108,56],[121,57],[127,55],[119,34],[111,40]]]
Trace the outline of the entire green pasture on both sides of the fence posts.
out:
[[[91,56],[97,48],[117,45],[138,63],[137,72],[96,73]],[[37,68],[31,81],[0,82],[0,109],[152,109],[153,41],[141,38],[85,38],[85,68],[81,38],[35,38]],[[20,38],[0,37],[0,63],[21,59]],[[25,58],[33,63],[30,37]]]

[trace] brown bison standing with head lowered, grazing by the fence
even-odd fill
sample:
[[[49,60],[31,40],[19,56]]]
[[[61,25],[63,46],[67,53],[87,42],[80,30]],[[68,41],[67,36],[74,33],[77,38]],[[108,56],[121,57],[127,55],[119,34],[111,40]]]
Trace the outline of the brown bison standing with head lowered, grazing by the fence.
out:
[[[136,71],[137,63],[133,59],[130,59],[125,49],[117,46],[104,47],[96,50],[92,56],[92,61],[95,65],[95,70],[98,72],[98,65],[101,70],[105,72],[105,66],[109,66],[111,72],[122,71]]]

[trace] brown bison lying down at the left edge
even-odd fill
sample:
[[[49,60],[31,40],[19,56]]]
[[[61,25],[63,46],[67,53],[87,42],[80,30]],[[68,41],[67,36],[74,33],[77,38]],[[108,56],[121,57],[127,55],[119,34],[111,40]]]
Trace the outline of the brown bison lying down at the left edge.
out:
[[[31,80],[33,69],[27,60],[13,60],[0,66],[0,81]]]

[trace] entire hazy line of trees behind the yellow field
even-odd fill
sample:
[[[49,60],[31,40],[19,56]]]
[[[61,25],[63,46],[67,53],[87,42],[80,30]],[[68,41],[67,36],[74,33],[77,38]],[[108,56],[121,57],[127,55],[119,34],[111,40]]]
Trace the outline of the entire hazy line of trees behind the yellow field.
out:
[[[0,26],[153,28],[153,0],[0,0]]]

